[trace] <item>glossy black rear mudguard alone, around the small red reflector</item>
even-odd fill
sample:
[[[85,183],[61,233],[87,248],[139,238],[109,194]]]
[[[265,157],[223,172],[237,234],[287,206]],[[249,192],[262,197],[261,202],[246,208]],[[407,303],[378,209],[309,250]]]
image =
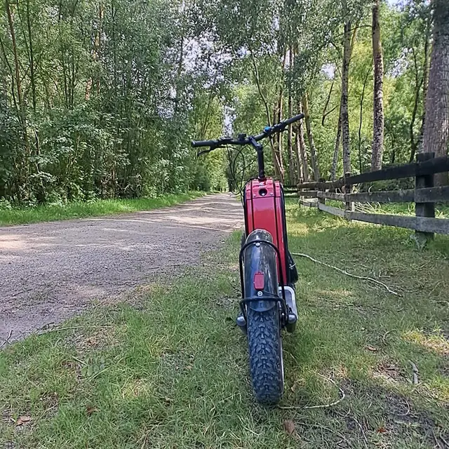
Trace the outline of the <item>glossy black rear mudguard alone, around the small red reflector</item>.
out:
[[[277,252],[273,246],[272,234],[264,229],[255,229],[246,238],[242,253],[242,293],[244,300],[248,300],[246,306],[255,311],[268,311],[273,307],[279,307]],[[259,279],[263,279],[262,289],[255,286],[256,274],[260,276]],[[260,300],[257,299],[259,297]]]

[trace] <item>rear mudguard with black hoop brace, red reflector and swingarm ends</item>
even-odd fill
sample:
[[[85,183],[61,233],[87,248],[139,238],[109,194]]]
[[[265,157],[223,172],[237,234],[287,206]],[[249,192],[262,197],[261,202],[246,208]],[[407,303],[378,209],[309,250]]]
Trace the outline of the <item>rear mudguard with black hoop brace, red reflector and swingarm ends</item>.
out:
[[[272,235],[264,229],[255,229],[240,250],[240,280],[242,300],[237,325],[246,333],[246,310],[268,311],[279,307],[281,326],[288,332],[295,330],[297,307],[295,290],[285,286],[281,272],[278,281],[276,260],[281,260]]]

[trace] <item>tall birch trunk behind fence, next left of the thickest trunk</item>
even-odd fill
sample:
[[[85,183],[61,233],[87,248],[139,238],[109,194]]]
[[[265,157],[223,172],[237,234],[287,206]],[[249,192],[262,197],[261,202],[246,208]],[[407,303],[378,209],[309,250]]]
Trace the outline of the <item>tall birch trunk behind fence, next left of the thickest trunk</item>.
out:
[[[382,168],[384,152],[384,60],[382,43],[380,42],[379,24],[380,0],[373,3],[373,61],[374,61],[374,105],[373,105],[373,152],[371,154],[371,170]]]

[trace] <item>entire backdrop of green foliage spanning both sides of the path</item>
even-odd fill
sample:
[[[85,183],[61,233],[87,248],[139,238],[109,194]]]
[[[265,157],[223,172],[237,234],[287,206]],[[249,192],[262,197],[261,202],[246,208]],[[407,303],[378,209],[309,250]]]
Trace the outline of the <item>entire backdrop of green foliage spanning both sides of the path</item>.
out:
[[[369,170],[370,5],[6,1],[0,6],[0,198],[34,205],[235,188],[227,166],[236,153],[197,160],[189,140],[258,133],[289,114],[289,95],[293,113],[299,112],[306,92],[320,172],[329,177],[346,20],[353,41],[352,171]],[[382,2],[386,164],[408,162],[419,145],[430,25],[424,0]],[[273,173],[276,142],[270,146],[267,171]],[[248,173],[255,173],[253,152],[243,154],[246,162],[236,162],[239,173],[248,163]],[[288,173],[286,138],[280,156]]]

